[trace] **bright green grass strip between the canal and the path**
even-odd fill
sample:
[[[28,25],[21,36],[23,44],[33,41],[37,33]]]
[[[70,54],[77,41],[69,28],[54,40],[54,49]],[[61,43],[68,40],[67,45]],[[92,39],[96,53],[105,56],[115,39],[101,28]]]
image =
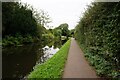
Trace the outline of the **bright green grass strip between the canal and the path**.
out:
[[[62,78],[70,42],[71,40],[68,40],[48,61],[43,64],[36,65],[35,69],[28,75],[28,79]]]

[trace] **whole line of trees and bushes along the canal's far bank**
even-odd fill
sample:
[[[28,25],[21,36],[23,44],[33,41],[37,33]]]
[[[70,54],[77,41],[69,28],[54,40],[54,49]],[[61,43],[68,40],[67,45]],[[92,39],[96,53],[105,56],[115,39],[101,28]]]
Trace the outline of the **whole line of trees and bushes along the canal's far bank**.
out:
[[[2,46],[21,46],[41,40],[52,41],[70,37],[69,25],[63,23],[55,29],[49,28],[50,16],[21,2],[2,2]]]

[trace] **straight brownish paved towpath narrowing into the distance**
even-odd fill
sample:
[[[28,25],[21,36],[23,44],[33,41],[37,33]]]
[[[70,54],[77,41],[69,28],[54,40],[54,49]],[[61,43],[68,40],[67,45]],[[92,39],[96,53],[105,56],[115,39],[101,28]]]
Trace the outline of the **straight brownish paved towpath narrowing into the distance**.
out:
[[[74,38],[71,39],[63,78],[98,78]]]

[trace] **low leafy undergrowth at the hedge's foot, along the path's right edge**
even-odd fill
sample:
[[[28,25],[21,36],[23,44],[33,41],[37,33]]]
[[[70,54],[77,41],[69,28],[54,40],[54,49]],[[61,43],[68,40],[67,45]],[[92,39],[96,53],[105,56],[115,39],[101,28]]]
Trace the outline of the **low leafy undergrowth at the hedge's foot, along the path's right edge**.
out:
[[[84,45],[81,45],[81,48],[85,53],[85,57],[87,57],[87,60],[90,62],[90,65],[94,66],[99,76],[116,77],[119,75],[119,72],[111,67],[113,64],[105,60],[104,57],[98,54],[90,53],[89,48],[86,48]]]

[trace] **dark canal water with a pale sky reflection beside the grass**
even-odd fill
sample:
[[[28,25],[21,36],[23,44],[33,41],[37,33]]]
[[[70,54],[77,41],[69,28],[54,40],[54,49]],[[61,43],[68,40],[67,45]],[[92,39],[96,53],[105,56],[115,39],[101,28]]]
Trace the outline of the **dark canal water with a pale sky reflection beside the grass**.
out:
[[[2,49],[2,78],[24,78],[36,64],[51,58],[64,43],[39,42]]]

